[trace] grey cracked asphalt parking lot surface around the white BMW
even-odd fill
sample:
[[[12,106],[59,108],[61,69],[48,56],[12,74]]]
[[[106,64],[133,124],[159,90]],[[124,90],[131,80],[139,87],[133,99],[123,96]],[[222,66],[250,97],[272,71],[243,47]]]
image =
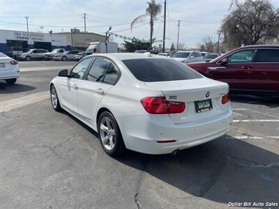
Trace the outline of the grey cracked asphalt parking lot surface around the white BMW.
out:
[[[59,68],[74,64],[22,62],[16,84],[0,81],[1,208],[278,203],[278,99],[232,95],[231,130],[176,156],[128,151],[112,158],[96,132],[65,111],[52,110],[50,80]]]

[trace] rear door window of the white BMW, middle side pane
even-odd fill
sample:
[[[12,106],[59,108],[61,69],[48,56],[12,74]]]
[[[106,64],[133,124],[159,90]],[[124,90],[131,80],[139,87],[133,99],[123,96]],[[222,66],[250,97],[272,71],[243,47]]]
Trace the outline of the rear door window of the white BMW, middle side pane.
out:
[[[105,59],[96,58],[88,72],[86,79],[91,82],[103,82],[105,72],[109,65],[110,62],[106,61]]]

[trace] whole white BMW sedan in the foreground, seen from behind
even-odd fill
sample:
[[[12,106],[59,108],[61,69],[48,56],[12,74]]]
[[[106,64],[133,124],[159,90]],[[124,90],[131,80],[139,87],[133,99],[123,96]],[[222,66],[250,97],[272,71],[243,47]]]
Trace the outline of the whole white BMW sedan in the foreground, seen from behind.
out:
[[[223,136],[229,86],[149,53],[94,54],[50,83],[52,107],[98,132],[108,155],[172,153]]]

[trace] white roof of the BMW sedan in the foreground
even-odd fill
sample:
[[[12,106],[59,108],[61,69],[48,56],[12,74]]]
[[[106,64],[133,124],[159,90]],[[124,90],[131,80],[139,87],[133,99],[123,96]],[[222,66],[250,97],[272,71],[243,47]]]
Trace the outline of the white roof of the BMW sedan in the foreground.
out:
[[[127,59],[169,59],[166,56],[160,56],[157,54],[151,54],[149,56],[146,53],[107,53],[107,54],[92,54],[90,56],[106,56],[110,59],[119,59],[119,60],[127,60]]]

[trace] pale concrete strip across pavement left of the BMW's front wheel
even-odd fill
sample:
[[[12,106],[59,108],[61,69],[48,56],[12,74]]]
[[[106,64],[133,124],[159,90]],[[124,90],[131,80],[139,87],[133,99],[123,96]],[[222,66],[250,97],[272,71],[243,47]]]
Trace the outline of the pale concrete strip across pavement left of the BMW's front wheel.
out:
[[[32,93],[30,95],[26,95],[20,98],[5,100],[3,102],[0,102],[0,112],[10,111],[18,107],[24,107],[29,104],[40,102],[47,98],[50,98],[50,91],[41,91],[39,93]]]

